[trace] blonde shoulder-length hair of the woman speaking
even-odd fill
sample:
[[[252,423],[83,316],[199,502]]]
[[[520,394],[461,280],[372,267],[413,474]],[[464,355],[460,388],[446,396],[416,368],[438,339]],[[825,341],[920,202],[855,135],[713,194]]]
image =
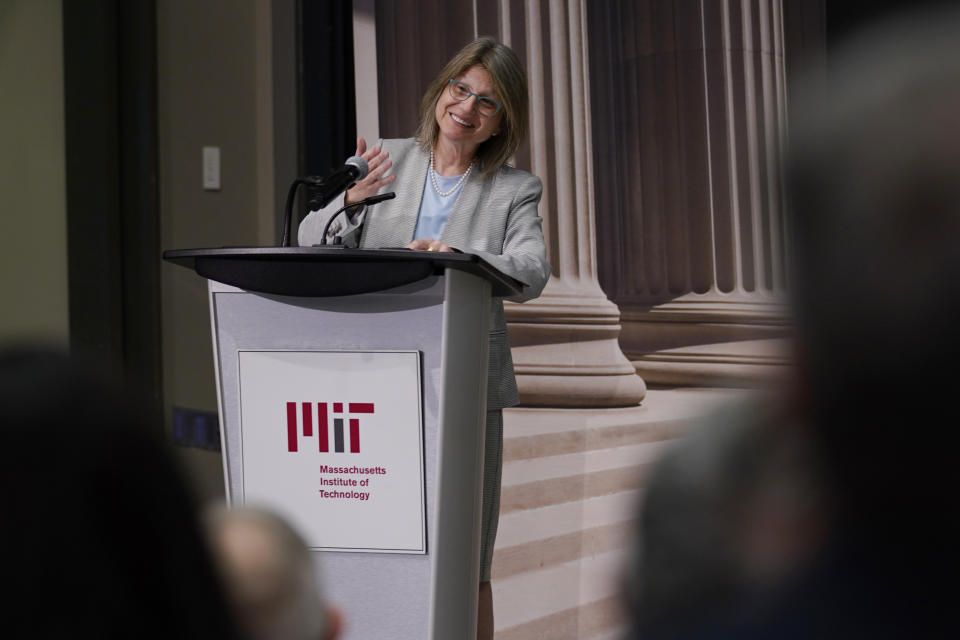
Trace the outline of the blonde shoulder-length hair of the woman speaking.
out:
[[[416,137],[424,151],[433,148],[440,134],[435,115],[437,100],[451,78],[463,75],[475,65],[480,65],[490,74],[493,88],[503,105],[500,132],[477,149],[477,168],[486,174],[499,169],[517,152],[527,138],[529,127],[527,74],[513,49],[495,39],[489,36],[477,38],[457,52],[440,70],[420,101],[420,124]]]

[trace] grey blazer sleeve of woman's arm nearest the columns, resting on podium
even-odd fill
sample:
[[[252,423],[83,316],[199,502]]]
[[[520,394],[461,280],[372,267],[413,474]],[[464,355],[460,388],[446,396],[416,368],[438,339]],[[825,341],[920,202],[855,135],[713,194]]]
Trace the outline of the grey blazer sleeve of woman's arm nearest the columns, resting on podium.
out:
[[[523,283],[523,291],[506,298],[513,302],[532,300],[540,295],[550,278],[547,247],[543,240],[543,219],[538,207],[543,194],[540,178],[526,174],[510,202],[503,252],[493,254],[470,249],[500,272]]]

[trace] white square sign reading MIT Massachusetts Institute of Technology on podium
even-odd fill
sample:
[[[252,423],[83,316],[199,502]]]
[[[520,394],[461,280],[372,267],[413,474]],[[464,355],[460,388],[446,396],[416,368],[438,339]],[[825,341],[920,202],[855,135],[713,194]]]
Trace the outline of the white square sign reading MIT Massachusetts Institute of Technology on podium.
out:
[[[314,549],[426,553],[419,352],[237,356],[243,501]]]

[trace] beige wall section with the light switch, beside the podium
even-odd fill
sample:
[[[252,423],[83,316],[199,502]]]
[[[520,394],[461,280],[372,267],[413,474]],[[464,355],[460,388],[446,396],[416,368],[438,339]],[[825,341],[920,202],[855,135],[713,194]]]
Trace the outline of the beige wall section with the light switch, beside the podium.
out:
[[[269,0],[157,2],[164,249],[273,242],[269,8]],[[220,147],[219,191],[203,190],[204,146]],[[164,264],[161,286],[167,414],[216,410],[206,283]],[[182,453],[201,495],[221,495],[220,456]]]

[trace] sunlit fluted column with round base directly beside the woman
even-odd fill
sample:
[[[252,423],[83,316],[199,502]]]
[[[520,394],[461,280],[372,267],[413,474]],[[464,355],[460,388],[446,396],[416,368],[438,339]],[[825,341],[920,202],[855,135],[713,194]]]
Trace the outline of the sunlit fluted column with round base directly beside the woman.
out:
[[[628,406],[646,391],[617,341],[620,312],[597,278],[586,4],[499,5],[501,38],[526,58],[531,142],[517,161],[543,179],[553,266],[539,299],[507,308],[527,406]]]

